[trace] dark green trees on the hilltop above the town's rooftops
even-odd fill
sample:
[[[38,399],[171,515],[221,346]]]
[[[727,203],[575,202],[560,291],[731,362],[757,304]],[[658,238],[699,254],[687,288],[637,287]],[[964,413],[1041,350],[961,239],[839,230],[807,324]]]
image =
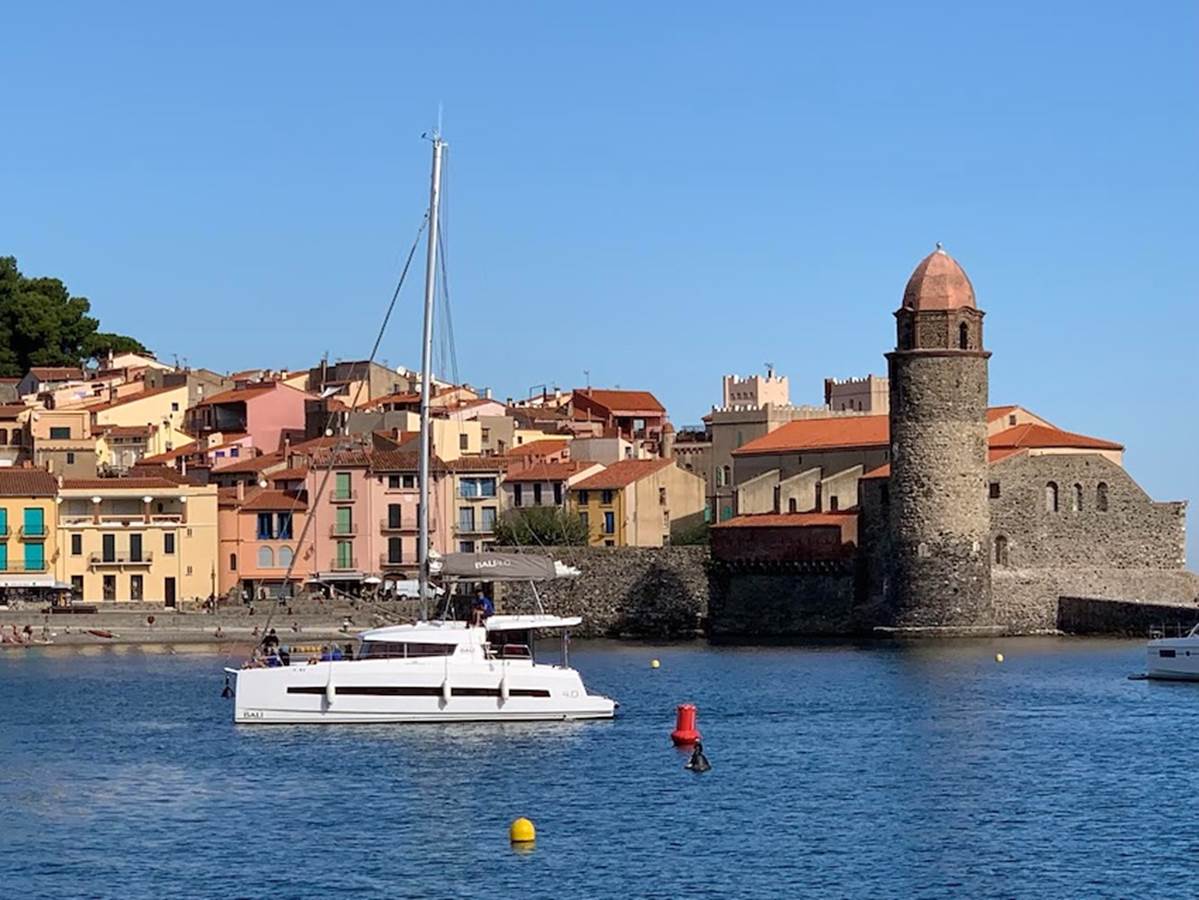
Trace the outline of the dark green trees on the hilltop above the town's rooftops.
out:
[[[97,333],[100,321],[90,312],[88,298],[72,297],[58,278],[28,278],[16,258],[0,256],[0,375],[80,366],[97,348],[141,348],[133,338]]]

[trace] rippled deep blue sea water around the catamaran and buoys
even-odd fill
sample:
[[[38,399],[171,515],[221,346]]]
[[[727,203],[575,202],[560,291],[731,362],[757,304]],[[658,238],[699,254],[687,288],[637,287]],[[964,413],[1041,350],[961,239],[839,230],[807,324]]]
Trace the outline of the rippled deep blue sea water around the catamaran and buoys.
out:
[[[1143,656],[578,642],[613,721],[235,726],[212,651],[4,652],[0,892],[1194,895],[1199,685],[1128,681]]]

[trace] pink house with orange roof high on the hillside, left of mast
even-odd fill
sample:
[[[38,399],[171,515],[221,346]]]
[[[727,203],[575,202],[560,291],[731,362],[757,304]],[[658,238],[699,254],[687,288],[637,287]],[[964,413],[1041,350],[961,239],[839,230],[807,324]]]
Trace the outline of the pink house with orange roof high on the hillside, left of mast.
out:
[[[303,431],[305,401],[312,394],[281,381],[223,391],[187,411],[186,430],[203,440],[213,433],[249,435],[261,453],[273,453],[284,431]]]

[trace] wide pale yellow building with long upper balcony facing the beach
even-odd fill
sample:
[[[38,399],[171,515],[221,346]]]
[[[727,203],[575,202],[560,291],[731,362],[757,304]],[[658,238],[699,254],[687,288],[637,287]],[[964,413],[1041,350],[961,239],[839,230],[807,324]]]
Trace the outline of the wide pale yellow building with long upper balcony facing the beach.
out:
[[[59,501],[56,572],[77,599],[176,606],[216,593],[216,485],[67,479]]]

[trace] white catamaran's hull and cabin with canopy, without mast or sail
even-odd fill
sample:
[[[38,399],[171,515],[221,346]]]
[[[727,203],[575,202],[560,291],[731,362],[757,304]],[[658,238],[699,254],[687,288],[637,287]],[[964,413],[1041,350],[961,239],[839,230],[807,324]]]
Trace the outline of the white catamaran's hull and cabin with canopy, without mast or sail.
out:
[[[492,616],[486,627],[434,621],[359,635],[354,659],[227,669],[234,721],[353,724],[610,719],[567,664],[566,629],[580,618]],[[561,665],[537,663],[532,630],[561,630]],[[529,635],[528,638],[525,635]]]

